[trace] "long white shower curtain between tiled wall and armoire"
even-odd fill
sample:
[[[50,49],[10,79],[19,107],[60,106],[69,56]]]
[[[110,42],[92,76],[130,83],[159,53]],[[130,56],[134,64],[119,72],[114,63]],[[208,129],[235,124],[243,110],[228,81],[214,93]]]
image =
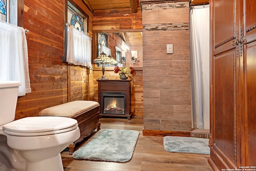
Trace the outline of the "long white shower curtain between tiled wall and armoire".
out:
[[[192,6],[190,22],[192,126],[210,129],[209,5]]]

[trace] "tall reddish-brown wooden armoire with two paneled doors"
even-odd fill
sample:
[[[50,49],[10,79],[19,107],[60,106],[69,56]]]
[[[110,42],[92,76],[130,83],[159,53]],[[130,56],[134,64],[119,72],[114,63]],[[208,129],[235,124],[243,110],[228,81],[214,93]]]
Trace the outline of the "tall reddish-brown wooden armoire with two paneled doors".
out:
[[[210,0],[213,170],[256,169],[256,0]]]

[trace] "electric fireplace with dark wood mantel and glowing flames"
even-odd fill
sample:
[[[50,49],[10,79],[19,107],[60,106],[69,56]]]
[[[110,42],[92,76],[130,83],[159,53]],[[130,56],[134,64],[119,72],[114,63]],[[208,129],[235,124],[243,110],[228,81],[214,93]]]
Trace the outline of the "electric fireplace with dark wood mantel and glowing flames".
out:
[[[100,117],[127,117],[131,113],[131,80],[97,80]]]

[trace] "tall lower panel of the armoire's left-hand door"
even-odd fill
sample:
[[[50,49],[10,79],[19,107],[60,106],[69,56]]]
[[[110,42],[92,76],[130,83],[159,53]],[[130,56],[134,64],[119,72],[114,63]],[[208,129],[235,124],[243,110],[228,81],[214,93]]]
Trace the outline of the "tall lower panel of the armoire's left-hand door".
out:
[[[235,160],[235,52],[214,57],[214,143]]]

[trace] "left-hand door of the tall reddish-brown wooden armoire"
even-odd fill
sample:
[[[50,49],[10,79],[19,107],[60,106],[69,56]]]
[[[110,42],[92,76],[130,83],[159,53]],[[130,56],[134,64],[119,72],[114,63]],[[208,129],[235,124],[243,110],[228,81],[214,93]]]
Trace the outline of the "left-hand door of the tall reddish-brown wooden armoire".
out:
[[[238,7],[238,0],[210,0],[211,156],[208,161],[215,170],[236,168],[240,162]]]

